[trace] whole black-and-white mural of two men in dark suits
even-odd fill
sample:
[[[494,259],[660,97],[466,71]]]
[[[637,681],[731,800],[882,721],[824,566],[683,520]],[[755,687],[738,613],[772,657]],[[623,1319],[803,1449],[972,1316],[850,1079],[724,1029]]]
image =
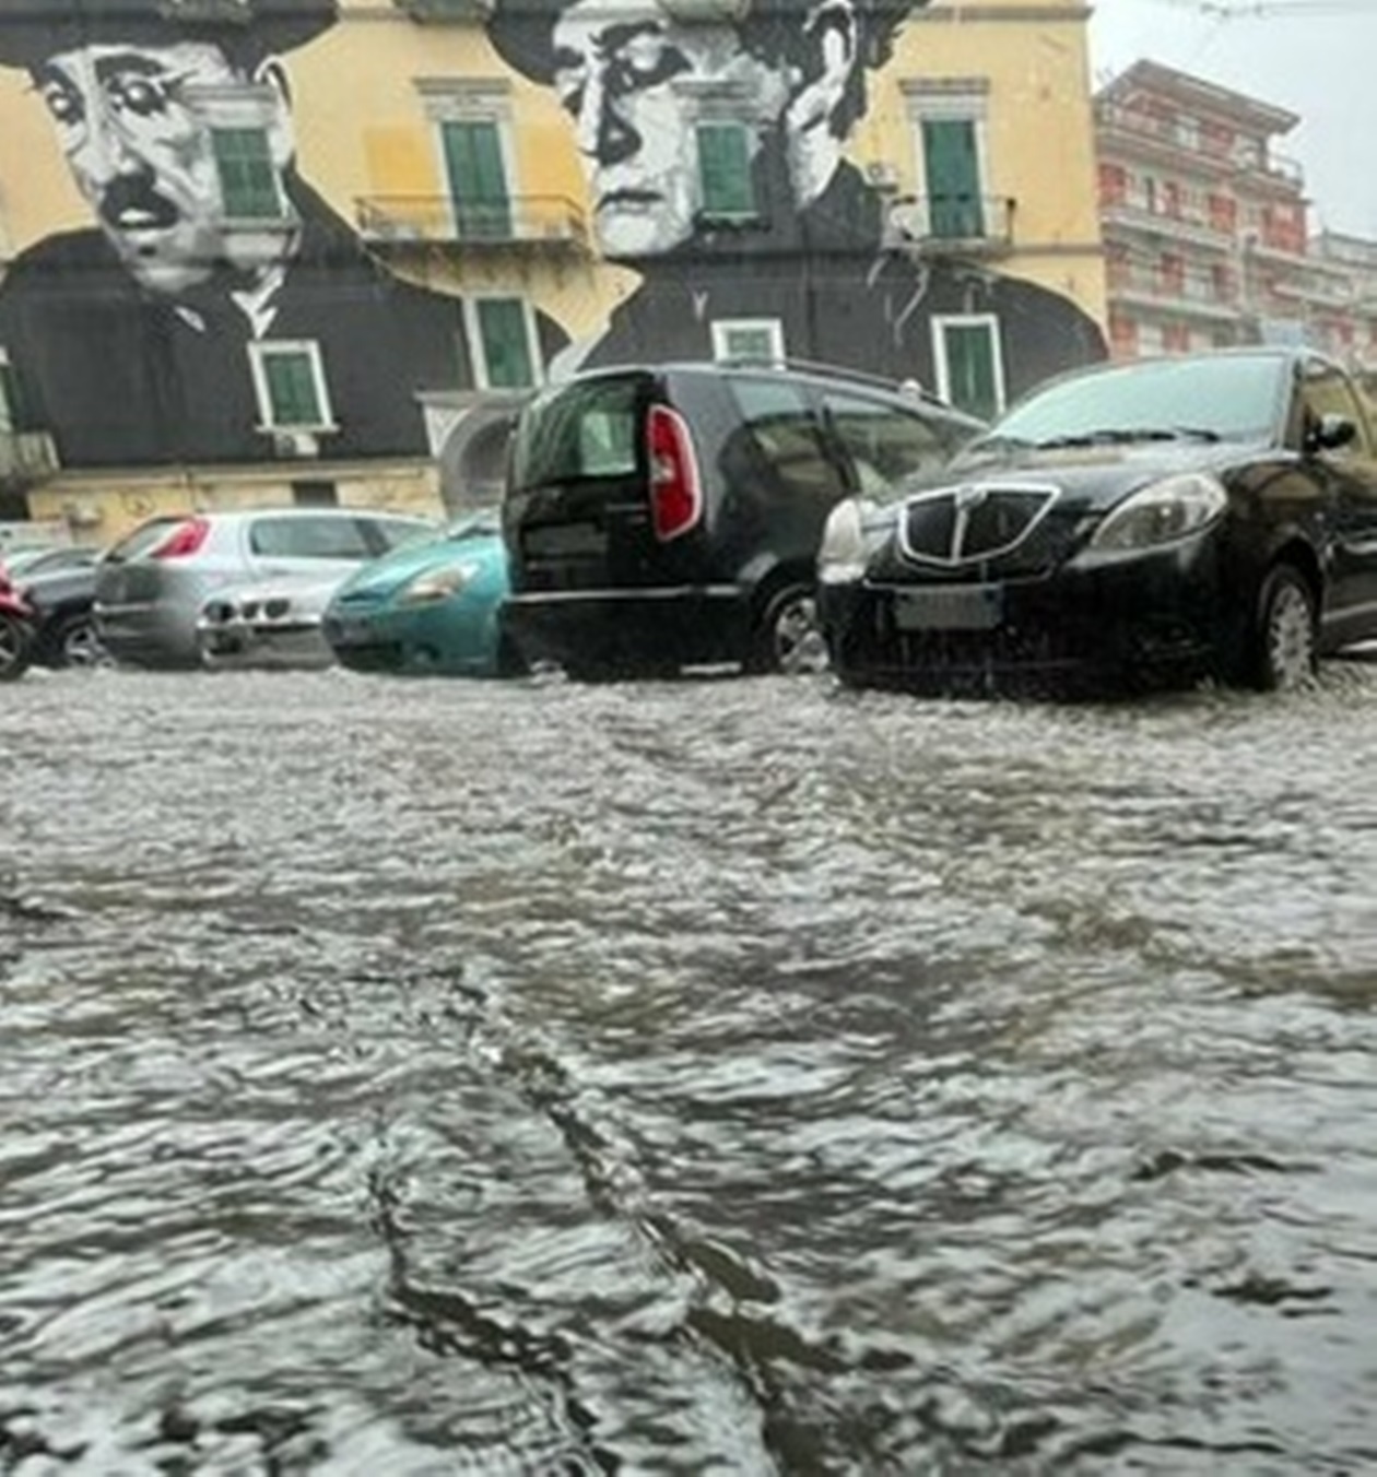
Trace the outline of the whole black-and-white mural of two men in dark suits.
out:
[[[30,80],[90,213],[0,281],[12,418],[49,430],[69,467],[270,459],[284,433],[297,453],[372,458],[437,449],[426,396],[582,365],[774,354],[928,385],[954,375],[978,402],[1099,357],[1099,326],[1070,298],[981,258],[894,250],[886,201],[847,145],[912,9],[495,0],[483,28],[430,28],[449,31],[446,56],[482,47],[567,117],[595,261],[635,284],[572,334],[557,294],[513,323],[486,288],[485,313],[465,307],[462,275],[445,289],[403,281],[352,202],[312,185],[297,123],[315,99],[297,96],[293,56],[347,10],[4,0],[0,66]],[[368,106],[334,103],[361,130]],[[957,214],[978,213],[960,185],[969,140],[934,137],[929,182],[954,168]],[[489,225],[516,189],[513,151],[493,139],[446,143],[455,202],[467,191]],[[529,275],[514,291],[532,291]],[[947,340],[935,321],[956,325]],[[963,323],[980,329],[969,344]],[[505,352],[513,331],[526,341]]]

